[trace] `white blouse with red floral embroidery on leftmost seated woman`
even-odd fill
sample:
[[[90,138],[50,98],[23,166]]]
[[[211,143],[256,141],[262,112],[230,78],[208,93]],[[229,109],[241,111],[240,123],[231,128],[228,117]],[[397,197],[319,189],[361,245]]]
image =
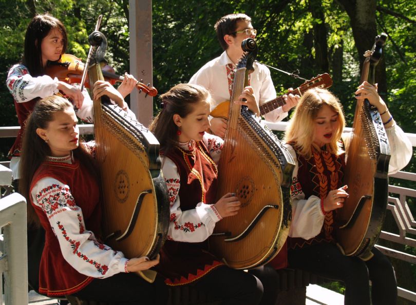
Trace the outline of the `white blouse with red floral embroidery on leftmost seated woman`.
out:
[[[72,156],[48,157],[48,161],[73,163]],[[45,190],[48,191],[45,192]],[[75,270],[94,278],[106,278],[120,272],[127,272],[128,259],[122,252],[114,251],[100,243],[91,231],[80,230],[80,226],[85,228],[84,217],[81,208],[74,202],[68,185],[57,179],[44,177],[34,185],[30,195],[33,203],[45,213],[53,211],[48,214],[50,226],[58,238],[62,255]],[[44,200],[51,196],[53,200]],[[59,226],[65,228],[65,236],[56,234],[61,231]],[[71,239],[74,245],[79,245],[77,251],[74,251],[72,244],[66,238]],[[88,261],[84,257],[87,257]]]

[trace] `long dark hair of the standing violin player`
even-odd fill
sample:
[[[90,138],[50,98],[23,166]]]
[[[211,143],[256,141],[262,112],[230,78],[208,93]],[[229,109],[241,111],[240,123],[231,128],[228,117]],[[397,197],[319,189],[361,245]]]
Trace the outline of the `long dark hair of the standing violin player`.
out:
[[[22,63],[25,65],[30,75],[40,76],[44,74],[42,65],[42,40],[50,30],[58,29],[64,39],[62,54],[65,53],[68,38],[62,22],[50,14],[36,15],[29,23],[25,36],[25,52]]]

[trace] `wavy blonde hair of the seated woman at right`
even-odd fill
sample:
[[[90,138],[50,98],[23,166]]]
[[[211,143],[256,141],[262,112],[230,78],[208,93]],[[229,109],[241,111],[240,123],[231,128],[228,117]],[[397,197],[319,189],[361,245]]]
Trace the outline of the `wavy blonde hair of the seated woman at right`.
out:
[[[312,146],[320,150],[313,143],[315,136],[315,119],[324,105],[329,106],[338,114],[338,128],[327,145],[330,153],[339,155],[343,152],[339,139],[345,127],[345,117],[342,105],[330,91],[322,88],[312,88],[300,98],[293,117],[285,132],[286,143],[294,144],[300,155],[309,159],[312,156]]]

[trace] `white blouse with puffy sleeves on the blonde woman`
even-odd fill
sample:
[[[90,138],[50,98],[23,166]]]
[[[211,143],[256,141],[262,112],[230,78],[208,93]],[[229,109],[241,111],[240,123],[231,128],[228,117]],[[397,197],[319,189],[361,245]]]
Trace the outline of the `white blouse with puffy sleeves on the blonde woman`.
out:
[[[390,144],[391,158],[389,162],[389,174],[394,174],[404,168],[411,156],[412,145],[403,130],[396,124],[386,129]],[[351,134],[343,134],[346,149],[346,161]],[[310,196],[305,198],[301,186],[297,180],[298,162],[296,153],[292,146],[287,145],[289,152],[295,160],[296,166],[293,171],[293,184],[297,182],[296,194],[292,193],[292,224],[289,231],[290,237],[301,237],[310,239],[318,235],[324,224],[325,215],[320,208],[320,198]],[[348,193],[348,190],[347,190]]]

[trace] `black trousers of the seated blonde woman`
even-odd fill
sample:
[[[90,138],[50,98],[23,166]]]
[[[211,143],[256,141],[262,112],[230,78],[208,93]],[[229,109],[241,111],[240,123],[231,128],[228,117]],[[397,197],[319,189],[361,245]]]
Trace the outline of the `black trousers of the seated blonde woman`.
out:
[[[345,304],[394,305],[397,283],[393,267],[387,257],[376,248],[368,261],[346,256],[332,243],[289,250],[289,266],[345,283]]]

